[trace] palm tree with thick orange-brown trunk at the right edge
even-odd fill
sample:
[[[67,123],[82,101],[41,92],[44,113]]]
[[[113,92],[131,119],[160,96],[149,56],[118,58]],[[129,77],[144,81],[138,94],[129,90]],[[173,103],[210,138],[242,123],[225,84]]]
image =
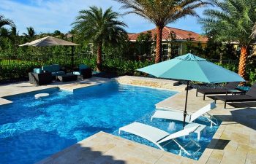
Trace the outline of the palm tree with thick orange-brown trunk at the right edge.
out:
[[[214,31],[219,42],[238,42],[241,47],[238,74],[246,77],[246,59],[249,55],[250,35],[256,21],[255,0],[212,0],[219,9],[206,9],[206,18],[200,20],[205,31]]]

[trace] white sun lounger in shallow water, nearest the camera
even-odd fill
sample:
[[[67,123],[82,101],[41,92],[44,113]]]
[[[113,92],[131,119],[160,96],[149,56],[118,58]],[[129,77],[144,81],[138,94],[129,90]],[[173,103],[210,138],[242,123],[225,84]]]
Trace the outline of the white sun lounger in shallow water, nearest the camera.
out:
[[[184,130],[180,130],[176,133],[170,134],[165,132],[164,130],[161,130],[159,128],[154,128],[153,126],[150,126],[150,125],[146,125],[139,122],[133,122],[129,125],[119,128],[118,134],[120,135],[121,131],[132,133],[136,136],[140,136],[142,138],[147,139],[148,141],[151,141],[162,150],[165,150],[165,149],[163,149],[163,147],[160,145],[161,143],[165,141],[174,141],[178,145],[178,147],[180,147],[180,155],[181,155],[181,150],[183,150],[187,155],[190,155],[189,152],[187,152],[187,150],[185,149],[185,147],[187,147],[189,144],[191,143],[196,144],[197,147],[199,147],[199,149],[197,149],[197,152],[201,149],[200,145],[197,144],[197,142],[189,136],[189,134],[193,133],[197,128],[198,128],[198,125],[195,125],[190,128],[185,128]],[[185,146],[181,146],[181,144],[179,144],[178,141],[176,140],[176,138],[182,137],[182,136],[189,136],[191,140]]]

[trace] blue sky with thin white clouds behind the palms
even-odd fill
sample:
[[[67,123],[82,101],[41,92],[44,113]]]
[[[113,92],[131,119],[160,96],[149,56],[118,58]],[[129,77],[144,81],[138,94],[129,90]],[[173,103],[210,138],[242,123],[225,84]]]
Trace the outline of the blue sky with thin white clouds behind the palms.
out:
[[[34,27],[37,33],[53,32],[59,30],[67,33],[72,27],[78,11],[87,9],[95,5],[107,9],[113,7],[116,12],[124,13],[126,10],[120,9],[121,4],[113,0],[0,0],[0,15],[14,20],[18,31],[26,31],[26,27]],[[197,9],[197,13],[202,15],[203,9]],[[121,17],[127,23],[127,32],[138,33],[154,28],[154,24],[144,20],[137,15],[125,15]],[[197,17],[185,17],[171,23],[168,26],[182,28],[188,31],[203,33]]]

